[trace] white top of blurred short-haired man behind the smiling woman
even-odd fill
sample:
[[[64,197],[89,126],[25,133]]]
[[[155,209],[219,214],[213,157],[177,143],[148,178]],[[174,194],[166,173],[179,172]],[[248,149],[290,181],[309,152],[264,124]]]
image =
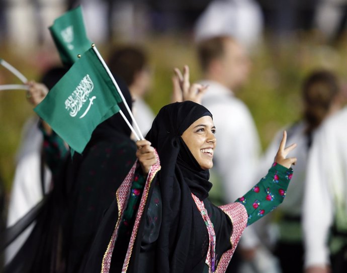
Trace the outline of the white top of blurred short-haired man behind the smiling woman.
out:
[[[202,104],[212,113],[216,126],[214,170],[221,177],[224,200],[231,203],[247,193],[261,178],[254,178],[260,153],[259,137],[249,110],[230,89],[215,81],[200,83],[209,86]],[[247,227],[240,244],[251,248],[258,243],[252,226]]]

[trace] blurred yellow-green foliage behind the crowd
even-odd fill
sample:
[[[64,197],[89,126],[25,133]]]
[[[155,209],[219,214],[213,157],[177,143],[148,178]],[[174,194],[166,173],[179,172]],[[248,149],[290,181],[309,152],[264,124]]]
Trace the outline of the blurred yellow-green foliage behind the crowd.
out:
[[[170,102],[173,67],[188,64],[191,81],[201,78],[194,43],[187,34],[152,35],[141,43],[146,49],[153,68],[153,86],[145,100],[157,113]],[[104,58],[112,45],[99,46]],[[44,52],[44,53],[42,53]],[[36,49],[18,54],[11,45],[0,45],[0,58],[18,68],[28,79],[38,80],[43,62],[55,49]],[[300,86],[303,78],[313,69],[328,68],[343,80],[346,78],[346,43],[327,45],[317,35],[306,33],[295,39],[274,45],[265,38],[250,52],[252,70],[248,82],[236,96],[245,102],[253,115],[263,149],[274,134],[285,124],[300,118]],[[20,83],[5,68],[0,67],[0,82]],[[212,113],[213,114],[213,113]],[[15,154],[20,143],[25,121],[35,113],[26,102],[21,90],[0,92],[0,174],[9,193],[15,170]],[[225,117],[228,119],[229,117]],[[240,132],[242,134],[242,132]],[[218,138],[218,135],[217,135]]]

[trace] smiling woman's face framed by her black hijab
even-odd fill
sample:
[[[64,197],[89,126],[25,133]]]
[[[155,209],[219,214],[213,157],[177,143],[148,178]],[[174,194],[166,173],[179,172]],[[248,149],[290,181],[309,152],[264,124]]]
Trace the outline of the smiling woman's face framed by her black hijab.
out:
[[[196,120],[183,133],[182,139],[198,161],[202,169],[210,169],[213,166],[213,152],[216,147],[216,127],[210,116],[204,116]]]

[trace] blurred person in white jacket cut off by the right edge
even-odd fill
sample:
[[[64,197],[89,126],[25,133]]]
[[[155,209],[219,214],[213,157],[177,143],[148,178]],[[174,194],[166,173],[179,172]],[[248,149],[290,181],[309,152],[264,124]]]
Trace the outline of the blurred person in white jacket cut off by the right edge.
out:
[[[313,136],[303,202],[305,273],[347,268],[347,108]]]

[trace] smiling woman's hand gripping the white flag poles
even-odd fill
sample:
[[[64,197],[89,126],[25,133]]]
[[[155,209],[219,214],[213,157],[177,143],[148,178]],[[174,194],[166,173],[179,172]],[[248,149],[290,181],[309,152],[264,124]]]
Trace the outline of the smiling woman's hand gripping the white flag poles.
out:
[[[136,141],[136,146],[136,156],[141,164],[143,174],[148,174],[150,167],[157,162],[154,148],[145,139]]]

